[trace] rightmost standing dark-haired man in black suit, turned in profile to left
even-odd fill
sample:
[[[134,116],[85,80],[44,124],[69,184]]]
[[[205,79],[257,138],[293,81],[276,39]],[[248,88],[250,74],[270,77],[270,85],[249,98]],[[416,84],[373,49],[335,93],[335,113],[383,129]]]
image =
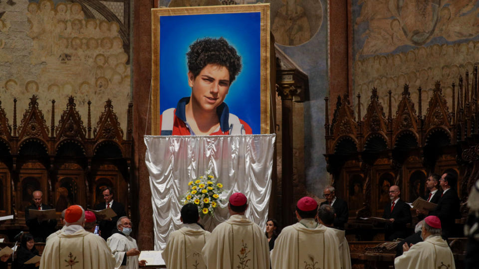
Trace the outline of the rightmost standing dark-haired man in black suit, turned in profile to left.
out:
[[[441,220],[444,239],[448,239],[455,235],[454,224],[461,214],[461,201],[459,200],[456,190],[452,188],[453,186],[456,186],[456,182],[456,177],[453,174],[443,174],[439,180],[443,193],[439,199],[438,206],[431,213],[427,212],[429,215],[438,216]]]

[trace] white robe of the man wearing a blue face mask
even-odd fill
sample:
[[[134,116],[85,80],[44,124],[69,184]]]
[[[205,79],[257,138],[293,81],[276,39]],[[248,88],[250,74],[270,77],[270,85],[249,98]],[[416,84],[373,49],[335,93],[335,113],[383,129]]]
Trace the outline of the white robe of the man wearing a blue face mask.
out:
[[[138,249],[136,240],[130,236],[125,236],[120,233],[112,234],[106,241],[108,247],[111,249],[111,253],[115,256],[116,265],[115,269],[138,269],[138,256],[126,257],[126,265],[122,266],[121,263],[125,258],[126,252],[131,249]]]

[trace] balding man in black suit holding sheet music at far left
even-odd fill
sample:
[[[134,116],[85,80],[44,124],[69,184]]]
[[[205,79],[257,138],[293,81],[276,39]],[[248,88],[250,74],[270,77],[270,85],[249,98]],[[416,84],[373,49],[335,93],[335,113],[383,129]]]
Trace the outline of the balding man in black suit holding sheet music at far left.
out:
[[[55,232],[56,219],[44,220],[39,218],[30,219],[30,209],[47,210],[53,209],[51,206],[43,204],[43,193],[36,190],[32,193],[33,203],[25,208],[25,223],[28,226],[30,234],[33,236],[35,242],[45,242],[47,236]]]

